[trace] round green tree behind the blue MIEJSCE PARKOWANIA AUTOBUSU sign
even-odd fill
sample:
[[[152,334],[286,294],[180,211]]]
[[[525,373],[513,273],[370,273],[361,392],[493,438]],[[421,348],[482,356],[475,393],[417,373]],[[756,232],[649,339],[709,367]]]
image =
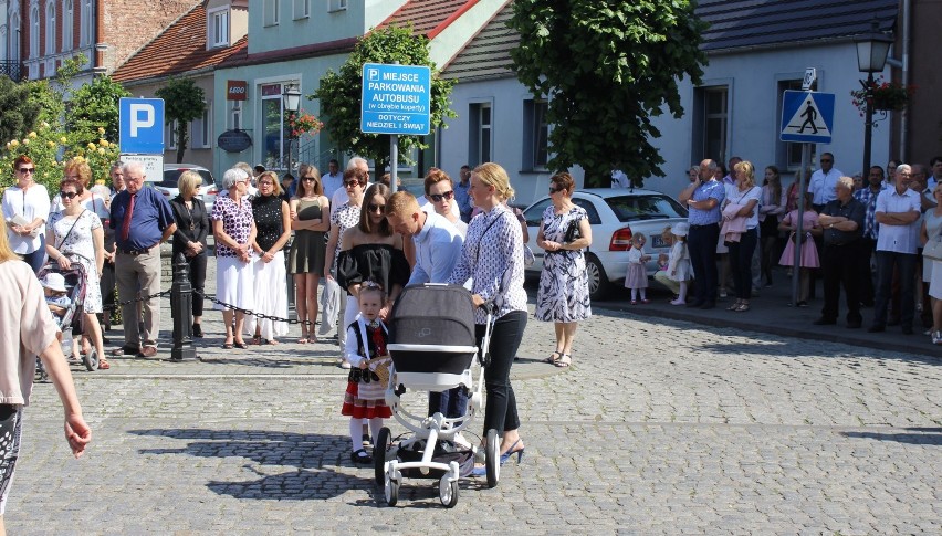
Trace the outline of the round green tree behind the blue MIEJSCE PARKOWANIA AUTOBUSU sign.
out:
[[[438,76],[428,44],[428,38],[414,34],[411,27],[374,30],[359,40],[339,73],[328,71],[321,78],[321,87],[307,98],[321,101],[324,128],[342,150],[375,159],[377,169],[385,168],[389,161],[389,136],[363,134],[359,129],[364,63],[428,65],[432,72],[431,127],[442,126],[446,117],[456,116],[449,99],[454,81]],[[427,147],[421,136],[399,136],[404,159],[408,159],[410,149]]]

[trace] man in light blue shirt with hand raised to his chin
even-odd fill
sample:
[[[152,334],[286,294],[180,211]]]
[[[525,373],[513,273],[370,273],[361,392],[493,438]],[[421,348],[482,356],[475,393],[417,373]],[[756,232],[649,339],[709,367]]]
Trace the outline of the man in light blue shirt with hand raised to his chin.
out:
[[[700,162],[700,176],[678,196],[690,211],[687,248],[697,277],[697,296],[687,306],[702,309],[716,306],[716,242],[720,240],[720,206],[726,197],[723,183],[716,180],[716,162],[709,158]]]

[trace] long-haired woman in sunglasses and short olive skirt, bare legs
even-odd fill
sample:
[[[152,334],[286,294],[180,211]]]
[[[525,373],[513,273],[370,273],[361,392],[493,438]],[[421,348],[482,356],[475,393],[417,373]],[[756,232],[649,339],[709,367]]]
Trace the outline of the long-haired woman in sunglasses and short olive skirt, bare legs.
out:
[[[331,228],[331,200],[324,196],[321,174],[310,164],[297,167],[295,196],[291,199],[291,229],[294,242],[289,255],[289,271],[294,274],[295,309],[301,324],[299,344],[316,343],[314,322],[317,320],[317,286],[324,276],[326,244],[324,234]],[[303,324],[310,322],[311,324]]]

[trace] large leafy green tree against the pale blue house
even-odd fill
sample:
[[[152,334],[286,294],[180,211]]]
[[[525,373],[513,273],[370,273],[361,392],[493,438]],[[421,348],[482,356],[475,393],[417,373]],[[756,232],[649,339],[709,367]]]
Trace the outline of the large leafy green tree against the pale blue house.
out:
[[[521,83],[548,97],[554,153],[550,166],[578,164],[587,186],[608,186],[614,167],[636,185],[663,176],[660,137],[651,117],[683,114],[678,82],[694,84],[706,56],[700,51],[706,23],[695,1],[574,2],[515,0],[509,25],[520,32],[511,51]]]

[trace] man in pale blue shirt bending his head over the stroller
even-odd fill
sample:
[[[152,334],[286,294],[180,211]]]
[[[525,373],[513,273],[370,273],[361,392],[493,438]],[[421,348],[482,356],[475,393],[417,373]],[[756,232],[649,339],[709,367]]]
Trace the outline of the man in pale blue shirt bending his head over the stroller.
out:
[[[416,265],[409,285],[444,283],[451,275],[464,239],[443,216],[426,212],[411,193],[397,191],[386,203],[389,225],[405,237],[411,237],[416,246]],[[468,396],[461,387],[447,392],[429,393],[429,414],[440,411],[444,417],[462,417],[468,407]]]

